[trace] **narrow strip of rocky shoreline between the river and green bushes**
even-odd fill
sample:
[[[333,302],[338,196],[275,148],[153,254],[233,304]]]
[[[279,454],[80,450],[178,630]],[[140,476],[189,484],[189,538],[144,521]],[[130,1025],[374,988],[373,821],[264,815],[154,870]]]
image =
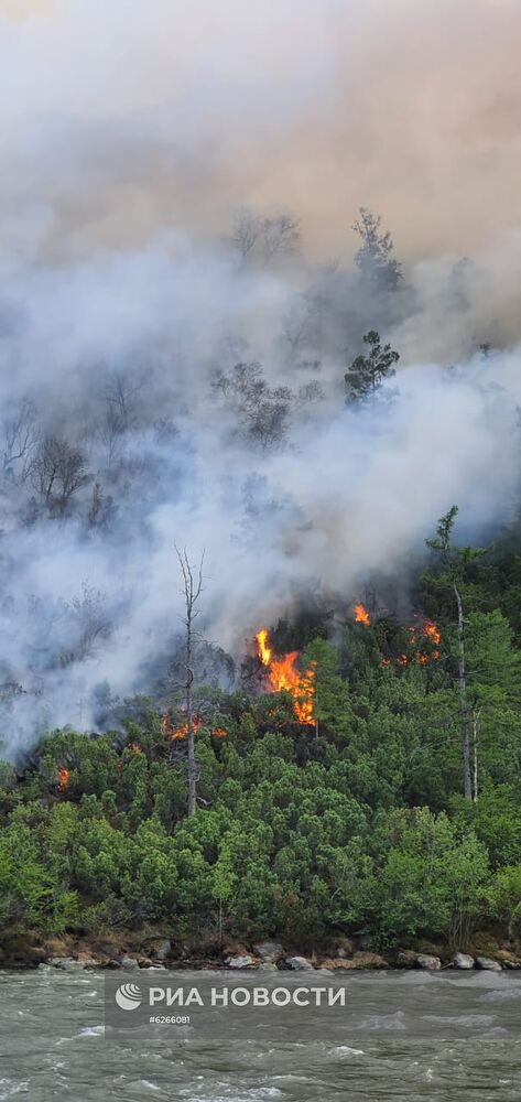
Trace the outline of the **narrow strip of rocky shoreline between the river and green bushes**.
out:
[[[343,973],[376,969],[421,969],[441,971],[456,969],[501,972],[521,971],[520,947],[509,941],[496,940],[488,933],[476,934],[465,952],[447,947],[421,943],[414,949],[398,948],[376,952],[370,939],[339,938],[327,947],[328,951],[312,951],[306,955],[284,947],[282,942],[267,940],[247,946],[226,942],[222,946],[193,946],[171,940],[169,937],[140,938],[133,932],[107,938],[64,938],[12,940],[0,947],[0,968],[34,969],[54,968],[73,972],[80,970],[112,969],[124,972],[146,970],[248,970],[248,971],[328,971]]]

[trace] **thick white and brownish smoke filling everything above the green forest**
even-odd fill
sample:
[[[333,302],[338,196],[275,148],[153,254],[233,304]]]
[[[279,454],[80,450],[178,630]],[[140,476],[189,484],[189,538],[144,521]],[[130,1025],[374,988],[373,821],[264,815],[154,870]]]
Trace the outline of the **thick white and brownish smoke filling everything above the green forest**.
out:
[[[473,537],[509,518],[521,12],[12,0],[0,24],[14,754],[163,683],[175,544],[206,550],[204,633],[240,659],[302,599],[406,593],[453,501]],[[402,279],[354,260],[360,204]],[[347,408],[371,328],[400,369]]]

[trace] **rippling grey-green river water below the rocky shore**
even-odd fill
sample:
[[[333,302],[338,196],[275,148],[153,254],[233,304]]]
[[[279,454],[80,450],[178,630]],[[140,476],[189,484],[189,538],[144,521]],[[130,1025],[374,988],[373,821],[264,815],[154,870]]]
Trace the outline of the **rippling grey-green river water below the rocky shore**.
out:
[[[160,975],[160,973],[158,973]],[[162,973],[164,979],[165,973]],[[237,974],[280,985],[287,973]],[[323,973],[301,973],[318,983]],[[200,973],[184,973],[197,984]],[[313,979],[312,979],[313,977]],[[216,979],[222,979],[219,973]],[[124,1037],[104,1028],[102,973],[0,972],[0,1102],[521,1100],[521,974],[346,974],[347,1005],[316,1033],[287,1011],[276,1041],[202,1040],[191,1031]],[[290,982],[296,982],[291,977]]]

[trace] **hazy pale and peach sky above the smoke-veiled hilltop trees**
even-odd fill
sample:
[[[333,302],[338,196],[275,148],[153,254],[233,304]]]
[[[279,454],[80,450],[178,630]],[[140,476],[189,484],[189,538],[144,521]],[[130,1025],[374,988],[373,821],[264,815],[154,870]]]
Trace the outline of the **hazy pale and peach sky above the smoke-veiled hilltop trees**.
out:
[[[519,0],[3,0],[0,204],[40,244],[197,237],[294,208],[322,257],[359,204],[400,252],[521,220]]]

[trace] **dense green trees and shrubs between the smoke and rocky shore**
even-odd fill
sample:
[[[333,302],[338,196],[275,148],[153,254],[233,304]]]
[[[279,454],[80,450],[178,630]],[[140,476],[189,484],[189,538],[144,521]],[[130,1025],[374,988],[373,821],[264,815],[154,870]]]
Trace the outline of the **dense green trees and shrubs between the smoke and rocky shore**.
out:
[[[358,622],[315,609],[273,625],[274,651],[313,671],[313,724],[265,691],[253,649],[240,690],[194,684],[193,814],[183,693],[164,716],[134,700],[124,734],[57,731],[18,773],[3,763],[3,933],[456,946],[500,923],[515,938],[518,529],[462,548],[452,509],[433,531],[409,622],[372,592]]]

